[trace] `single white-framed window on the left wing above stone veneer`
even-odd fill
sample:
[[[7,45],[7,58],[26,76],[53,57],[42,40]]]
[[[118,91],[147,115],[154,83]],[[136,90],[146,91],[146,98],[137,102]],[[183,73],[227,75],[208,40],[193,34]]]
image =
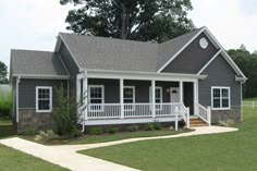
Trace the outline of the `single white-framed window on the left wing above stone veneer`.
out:
[[[36,87],[36,112],[52,111],[52,87]]]

